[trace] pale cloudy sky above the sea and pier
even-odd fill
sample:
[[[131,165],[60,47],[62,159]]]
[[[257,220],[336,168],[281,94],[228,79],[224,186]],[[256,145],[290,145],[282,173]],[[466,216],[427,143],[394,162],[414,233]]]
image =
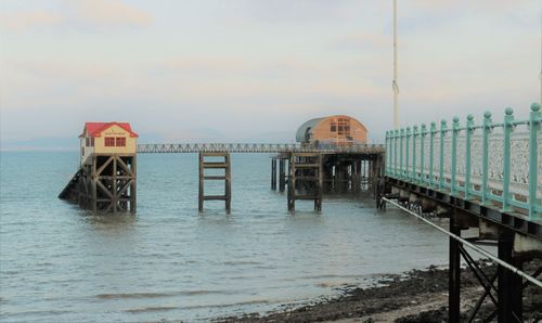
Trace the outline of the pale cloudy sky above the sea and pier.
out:
[[[401,126],[526,118],[539,0],[398,0]],[[0,0],[0,148],[77,148],[85,121],[140,143],[294,142],[307,119],[392,128],[391,0]]]

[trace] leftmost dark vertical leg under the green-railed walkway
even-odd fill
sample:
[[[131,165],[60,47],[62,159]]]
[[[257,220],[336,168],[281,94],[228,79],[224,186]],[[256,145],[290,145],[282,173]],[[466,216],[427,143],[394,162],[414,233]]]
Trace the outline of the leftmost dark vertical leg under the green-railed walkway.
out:
[[[461,228],[456,225],[454,214],[450,217],[450,232],[461,236]],[[460,242],[450,237],[450,263],[449,263],[449,296],[448,313],[449,322],[460,322],[461,299],[461,254]]]

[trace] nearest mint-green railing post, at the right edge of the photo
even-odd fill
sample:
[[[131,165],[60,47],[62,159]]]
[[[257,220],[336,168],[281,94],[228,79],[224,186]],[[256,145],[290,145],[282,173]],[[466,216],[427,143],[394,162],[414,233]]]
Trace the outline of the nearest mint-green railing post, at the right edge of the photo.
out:
[[[539,144],[538,131],[541,129],[540,104],[531,104],[531,113],[529,116],[529,220],[538,220],[537,217],[537,186],[539,171]]]

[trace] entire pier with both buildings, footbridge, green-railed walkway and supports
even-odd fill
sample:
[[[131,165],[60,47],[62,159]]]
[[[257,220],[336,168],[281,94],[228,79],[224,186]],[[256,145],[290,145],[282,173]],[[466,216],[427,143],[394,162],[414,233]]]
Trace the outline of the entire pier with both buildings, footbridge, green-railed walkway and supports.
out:
[[[506,108],[503,121],[493,121],[489,113],[478,124],[472,115],[464,125],[455,117],[451,127],[441,120],[439,127],[431,122],[387,131],[384,145],[366,144],[364,138],[357,142],[346,134],[356,125],[345,116],[307,121],[298,130],[298,144],[136,145],[137,134],[129,125],[100,125],[87,124],[80,168],[59,196],[82,208],[136,211],[137,153],[198,153],[198,210],[204,211],[204,202],[219,199],[229,214],[230,153],[272,154],[271,190],[286,192],[289,211],[296,210],[296,201],[312,201],[319,212],[325,194],[365,194],[375,198],[379,209],[393,205],[447,234],[450,322],[460,321],[462,258],[483,290],[469,322],[495,318],[522,322],[524,286],[542,287],[538,280],[542,268],[522,271],[526,262],[542,257],[542,113],[538,104],[531,106],[527,120],[516,120],[512,108]],[[325,132],[319,130],[321,125],[325,131],[331,129],[331,140],[319,137]],[[364,129],[361,124],[358,127]],[[222,172],[207,173],[210,169]],[[205,195],[206,181],[223,181],[224,194]],[[435,216],[449,218],[449,228],[427,220]],[[466,230],[468,236],[463,235]],[[498,255],[479,244],[494,245]],[[472,250],[496,262],[496,274],[485,273]],[[488,299],[494,311],[480,318],[478,311]]]

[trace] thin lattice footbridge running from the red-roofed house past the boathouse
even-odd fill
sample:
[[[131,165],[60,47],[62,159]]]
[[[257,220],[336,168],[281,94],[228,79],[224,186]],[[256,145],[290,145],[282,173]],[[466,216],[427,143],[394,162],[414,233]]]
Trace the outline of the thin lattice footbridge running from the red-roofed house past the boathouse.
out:
[[[294,143],[162,143],[138,144],[139,154],[182,153],[320,153],[320,154],[377,154],[382,144],[301,145]]]

